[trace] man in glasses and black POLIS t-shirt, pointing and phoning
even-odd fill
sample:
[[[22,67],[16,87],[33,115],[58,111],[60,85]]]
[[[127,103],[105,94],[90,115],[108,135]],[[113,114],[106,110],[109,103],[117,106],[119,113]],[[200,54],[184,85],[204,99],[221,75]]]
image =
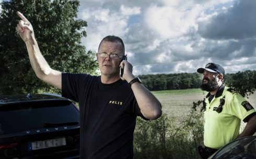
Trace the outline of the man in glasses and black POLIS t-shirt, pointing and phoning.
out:
[[[132,65],[122,60],[122,39],[106,36],[100,42],[96,56],[101,76],[67,74],[50,68],[40,53],[31,23],[18,11],[17,15],[21,20],[16,30],[26,43],[37,77],[79,103],[80,158],[133,158],[136,116],[157,119],[161,104],[132,74]]]

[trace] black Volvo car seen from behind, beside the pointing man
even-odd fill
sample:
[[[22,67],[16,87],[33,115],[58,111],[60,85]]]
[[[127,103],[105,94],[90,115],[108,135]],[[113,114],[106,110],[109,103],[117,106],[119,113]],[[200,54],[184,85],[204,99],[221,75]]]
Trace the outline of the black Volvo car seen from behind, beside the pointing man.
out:
[[[54,94],[0,96],[0,158],[79,158],[79,111]]]

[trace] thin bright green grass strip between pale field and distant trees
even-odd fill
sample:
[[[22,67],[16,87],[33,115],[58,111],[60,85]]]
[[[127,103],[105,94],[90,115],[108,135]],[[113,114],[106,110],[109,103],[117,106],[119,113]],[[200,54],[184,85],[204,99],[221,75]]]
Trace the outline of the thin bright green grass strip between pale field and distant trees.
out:
[[[164,91],[151,91],[155,96],[163,95],[177,95],[177,94],[200,94],[203,93],[201,89],[184,89],[184,90],[164,90]]]

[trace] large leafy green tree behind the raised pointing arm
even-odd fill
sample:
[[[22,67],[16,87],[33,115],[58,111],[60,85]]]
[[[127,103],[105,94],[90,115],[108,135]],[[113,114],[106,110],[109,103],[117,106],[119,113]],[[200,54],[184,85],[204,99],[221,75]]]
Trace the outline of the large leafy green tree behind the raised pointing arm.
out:
[[[0,13],[0,94],[53,91],[34,74],[25,43],[15,32],[19,10],[32,23],[41,53],[49,65],[65,72],[95,74],[95,53],[81,39],[87,22],[77,19],[76,0],[3,1]]]

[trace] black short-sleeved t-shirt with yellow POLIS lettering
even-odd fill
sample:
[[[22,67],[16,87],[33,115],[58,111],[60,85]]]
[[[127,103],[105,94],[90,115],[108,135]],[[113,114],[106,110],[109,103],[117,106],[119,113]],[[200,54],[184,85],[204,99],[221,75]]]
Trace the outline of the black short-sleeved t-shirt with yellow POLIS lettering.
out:
[[[126,81],[62,73],[62,96],[79,103],[80,158],[133,158],[136,116],[143,115]]]

